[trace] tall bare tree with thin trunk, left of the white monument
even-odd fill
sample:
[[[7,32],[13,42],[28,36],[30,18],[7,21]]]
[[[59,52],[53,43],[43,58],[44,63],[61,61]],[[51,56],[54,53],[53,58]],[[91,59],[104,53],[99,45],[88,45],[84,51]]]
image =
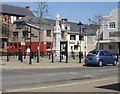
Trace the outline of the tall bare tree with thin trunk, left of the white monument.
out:
[[[47,3],[43,2],[43,1],[37,2],[36,5],[37,5],[37,8],[36,8],[36,10],[34,12],[37,15],[37,17],[39,17],[39,30],[38,30],[38,32],[39,32],[39,39],[38,39],[38,42],[39,42],[38,47],[39,47],[39,49],[38,49],[38,59],[37,59],[37,62],[39,62],[40,43],[41,43],[41,41],[40,41],[40,32],[42,30],[41,24],[42,24],[43,17],[46,16],[46,14],[48,14],[48,12],[49,12],[49,7],[48,7]]]

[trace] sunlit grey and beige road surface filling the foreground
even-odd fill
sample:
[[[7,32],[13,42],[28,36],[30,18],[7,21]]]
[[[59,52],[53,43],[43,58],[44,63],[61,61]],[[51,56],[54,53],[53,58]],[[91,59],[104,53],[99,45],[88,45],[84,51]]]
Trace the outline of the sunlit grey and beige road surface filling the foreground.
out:
[[[117,92],[118,87],[111,90],[99,86],[116,85],[118,67],[3,69],[2,83],[4,92]]]

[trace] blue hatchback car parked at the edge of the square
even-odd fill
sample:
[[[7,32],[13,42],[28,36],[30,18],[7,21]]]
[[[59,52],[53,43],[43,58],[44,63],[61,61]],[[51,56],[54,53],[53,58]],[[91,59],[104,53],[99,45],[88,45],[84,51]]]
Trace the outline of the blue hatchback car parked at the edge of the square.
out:
[[[85,58],[85,65],[117,65],[117,58],[106,50],[93,50],[88,53]]]

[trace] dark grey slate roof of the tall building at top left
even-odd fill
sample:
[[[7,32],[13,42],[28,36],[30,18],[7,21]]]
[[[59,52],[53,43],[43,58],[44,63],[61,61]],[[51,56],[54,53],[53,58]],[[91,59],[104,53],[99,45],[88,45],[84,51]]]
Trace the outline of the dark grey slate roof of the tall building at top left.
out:
[[[0,13],[19,15],[19,16],[26,16],[26,15],[34,16],[34,14],[29,9],[24,7],[18,7],[7,4],[0,4],[0,7],[2,8],[2,10],[0,10]]]

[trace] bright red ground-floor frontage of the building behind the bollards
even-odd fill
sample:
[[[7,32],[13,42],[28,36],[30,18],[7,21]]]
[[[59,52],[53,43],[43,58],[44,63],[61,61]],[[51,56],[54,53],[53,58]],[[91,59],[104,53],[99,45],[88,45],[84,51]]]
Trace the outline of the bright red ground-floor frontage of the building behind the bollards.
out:
[[[7,45],[7,43],[4,43],[4,44]],[[53,42],[51,42],[50,44],[51,45],[50,45],[49,52],[52,51]],[[38,45],[39,45],[38,42],[32,42],[31,43],[31,51],[37,53],[38,52]],[[47,43],[41,42],[41,45],[40,45],[40,52],[41,53],[47,53],[48,52],[48,50],[46,49],[46,45],[47,45]],[[24,53],[26,53],[27,47],[30,47],[30,42],[26,42],[25,45],[21,45],[21,42],[9,42],[8,43],[8,49],[4,47],[3,52],[4,53],[9,52],[11,54],[18,53],[20,47],[22,49],[22,53],[24,54]]]

